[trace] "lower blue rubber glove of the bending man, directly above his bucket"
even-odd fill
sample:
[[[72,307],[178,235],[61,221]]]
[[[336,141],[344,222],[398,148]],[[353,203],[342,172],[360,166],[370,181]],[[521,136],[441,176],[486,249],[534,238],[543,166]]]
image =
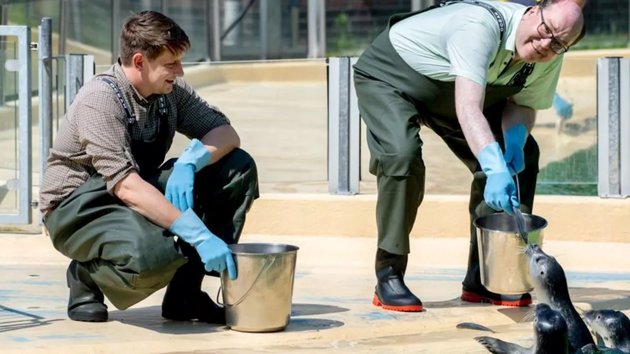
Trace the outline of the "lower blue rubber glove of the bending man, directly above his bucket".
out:
[[[503,152],[498,142],[488,144],[479,153],[479,164],[488,177],[483,198],[486,204],[495,210],[503,210],[513,215],[512,206],[520,207],[516,185],[512,179]]]

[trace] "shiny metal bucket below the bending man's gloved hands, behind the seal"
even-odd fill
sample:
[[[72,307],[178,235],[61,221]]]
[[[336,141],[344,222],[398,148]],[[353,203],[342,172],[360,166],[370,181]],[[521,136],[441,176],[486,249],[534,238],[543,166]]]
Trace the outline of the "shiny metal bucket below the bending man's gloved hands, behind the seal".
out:
[[[527,243],[542,248],[547,220],[537,215],[523,214]],[[473,222],[477,229],[479,272],[481,284],[497,294],[517,295],[534,290],[525,255],[525,241],[518,233],[512,215],[483,215]]]

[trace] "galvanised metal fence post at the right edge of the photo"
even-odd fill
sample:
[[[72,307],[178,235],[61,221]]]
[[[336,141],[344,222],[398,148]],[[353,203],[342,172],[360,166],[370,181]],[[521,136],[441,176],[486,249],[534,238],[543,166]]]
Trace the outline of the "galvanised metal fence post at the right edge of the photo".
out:
[[[630,59],[597,60],[597,193],[630,196]]]

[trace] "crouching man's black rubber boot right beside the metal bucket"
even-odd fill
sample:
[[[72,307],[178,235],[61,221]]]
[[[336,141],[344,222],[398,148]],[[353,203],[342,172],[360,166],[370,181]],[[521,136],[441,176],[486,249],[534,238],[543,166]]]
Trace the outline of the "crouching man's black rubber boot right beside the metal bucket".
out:
[[[183,241],[178,240],[178,243],[188,256],[188,262],[175,272],[166,287],[162,300],[162,317],[172,321],[196,319],[206,323],[226,324],[225,309],[215,304],[201,290],[205,269],[197,251]]]

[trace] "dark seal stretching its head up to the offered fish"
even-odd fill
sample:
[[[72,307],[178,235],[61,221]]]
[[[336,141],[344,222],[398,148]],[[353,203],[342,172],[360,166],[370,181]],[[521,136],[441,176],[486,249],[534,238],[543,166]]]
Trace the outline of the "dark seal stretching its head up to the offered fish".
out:
[[[564,269],[556,258],[544,253],[537,244],[525,246],[529,275],[534,282],[538,302],[548,304],[560,312],[569,334],[569,351],[575,353],[583,346],[595,344],[587,325],[575,311],[569,295]]]

